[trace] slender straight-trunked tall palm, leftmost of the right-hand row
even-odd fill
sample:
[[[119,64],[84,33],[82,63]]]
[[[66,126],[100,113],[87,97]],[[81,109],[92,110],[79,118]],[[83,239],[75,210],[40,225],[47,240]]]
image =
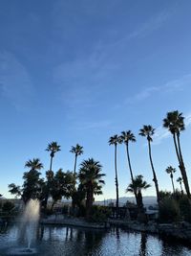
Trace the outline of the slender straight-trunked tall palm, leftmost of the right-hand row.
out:
[[[117,214],[118,214],[118,178],[117,178],[117,144],[120,144],[121,138],[116,134],[109,139],[109,145],[114,145],[115,146],[115,171],[116,171],[116,189],[117,189]]]

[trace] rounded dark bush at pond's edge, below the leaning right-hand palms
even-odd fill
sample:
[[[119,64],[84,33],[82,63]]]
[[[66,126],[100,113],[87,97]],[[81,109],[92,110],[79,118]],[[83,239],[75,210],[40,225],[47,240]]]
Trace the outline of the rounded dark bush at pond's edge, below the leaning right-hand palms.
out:
[[[159,221],[180,221],[180,208],[178,202],[173,198],[163,198],[159,202]]]

